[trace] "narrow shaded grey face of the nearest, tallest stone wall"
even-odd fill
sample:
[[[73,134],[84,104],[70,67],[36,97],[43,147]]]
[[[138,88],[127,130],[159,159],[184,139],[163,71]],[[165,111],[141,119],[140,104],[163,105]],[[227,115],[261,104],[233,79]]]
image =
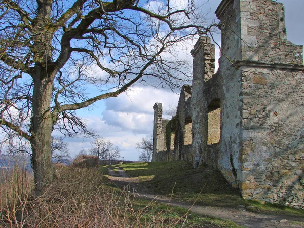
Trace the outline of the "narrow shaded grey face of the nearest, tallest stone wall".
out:
[[[244,1],[224,0],[216,10],[222,30],[218,74],[221,77],[221,139],[218,168],[234,187],[242,182],[242,72],[235,66],[241,59],[240,5]],[[248,1],[246,3],[249,3]]]

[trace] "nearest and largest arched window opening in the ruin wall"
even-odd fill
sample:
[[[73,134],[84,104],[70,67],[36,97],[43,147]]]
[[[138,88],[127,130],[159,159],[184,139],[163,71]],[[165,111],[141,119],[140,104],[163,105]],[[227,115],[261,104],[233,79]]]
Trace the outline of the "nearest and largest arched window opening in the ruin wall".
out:
[[[207,144],[212,145],[220,140],[220,99],[214,99],[208,106],[208,138]]]

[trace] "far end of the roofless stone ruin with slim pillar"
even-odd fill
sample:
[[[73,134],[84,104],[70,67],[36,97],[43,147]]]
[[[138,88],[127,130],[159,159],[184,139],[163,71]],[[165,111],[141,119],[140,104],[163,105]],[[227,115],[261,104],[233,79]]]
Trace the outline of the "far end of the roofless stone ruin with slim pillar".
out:
[[[153,161],[192,160],[191,86],[181,90],[177,114],[162,118],[162,103],[154,105]],[[157,120],[156,120],[157,118]]]

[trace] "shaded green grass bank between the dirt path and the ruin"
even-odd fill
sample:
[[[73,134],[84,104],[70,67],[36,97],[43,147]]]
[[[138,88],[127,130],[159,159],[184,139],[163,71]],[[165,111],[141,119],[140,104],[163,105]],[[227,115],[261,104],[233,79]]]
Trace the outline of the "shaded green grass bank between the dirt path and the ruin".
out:
[[[117,167],[131,177],[153,176],[150,181],[138,185],[138,192],[170,196],[173,199],[197,205],[236,208],[243,205],[247,210],[269,214],[303,216],[303,210],[244,200],[236,189],[230,187],[218,171],[208,167],[193,169],[185,161],[120,164]]]

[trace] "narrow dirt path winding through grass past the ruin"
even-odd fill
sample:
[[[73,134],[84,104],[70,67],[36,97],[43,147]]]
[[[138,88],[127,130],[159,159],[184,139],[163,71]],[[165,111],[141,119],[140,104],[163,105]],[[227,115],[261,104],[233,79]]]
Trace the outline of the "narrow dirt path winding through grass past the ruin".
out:
[[[216,218],[231,220],[238,225],[244,227],[294,227],[303,228],[304,219],[287,215],[270,215],[262,213],[254,213],[247,211],[246,207],[239,205],[237,208],[219,208],[210,206],[192,206],[188,203],[171,200],[167,197],[153,194],[137,193],[137,185],[140,183],[139,179],[128,177],[125,171],[118,168],[119,173],[115,173],[109,169],[108,178],[114,181],[118,187],[123,188],[128,186],[130,190],[133,189],[135,197],[147,200],[157,200],[158,202],[168,203],[170,206],[179,206],[183,208],[191,208],[192,212],[198,214],[210,215]]]

